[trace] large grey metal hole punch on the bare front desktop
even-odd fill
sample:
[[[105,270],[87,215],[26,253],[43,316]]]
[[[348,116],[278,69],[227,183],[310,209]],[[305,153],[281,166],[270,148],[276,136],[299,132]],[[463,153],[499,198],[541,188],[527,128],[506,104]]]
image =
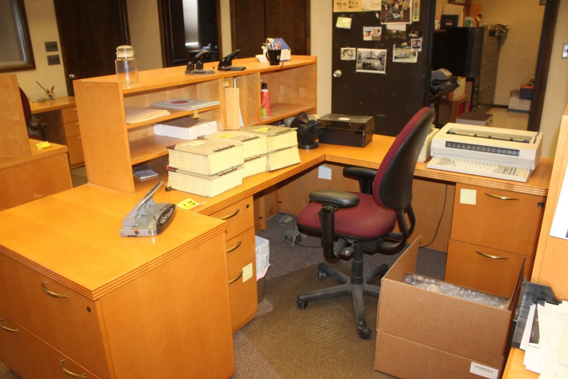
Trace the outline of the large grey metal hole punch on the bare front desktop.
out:
[[[157,183],[122,220],[121,237],[151,237],[163,232],[173,219],[176,205],[154,203],[154,193],[164,184]]]

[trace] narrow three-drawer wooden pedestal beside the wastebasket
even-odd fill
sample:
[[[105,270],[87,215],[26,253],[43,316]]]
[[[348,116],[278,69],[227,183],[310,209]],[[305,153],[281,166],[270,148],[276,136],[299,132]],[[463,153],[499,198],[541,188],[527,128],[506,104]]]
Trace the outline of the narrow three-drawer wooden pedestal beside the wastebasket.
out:
[[[234,333],[249,322],[258,309],[253,198],[247,197],[211,216],[227,222],[227,279]]]

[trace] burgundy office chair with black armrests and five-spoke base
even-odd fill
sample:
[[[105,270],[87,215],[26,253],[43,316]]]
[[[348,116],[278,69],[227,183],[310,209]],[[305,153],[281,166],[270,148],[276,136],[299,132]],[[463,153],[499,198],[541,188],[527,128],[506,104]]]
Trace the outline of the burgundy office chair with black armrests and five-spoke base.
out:
[[[306,308],[310,301],[351,295],[359,336],[370,338],[363,295],[379,296],[380,287],[371,283],[382,278],[389,268],[382,264],[364,278],[364,250],[396,253],[414,230],[412,178],[433,118],[434,112],[428,107],[419,110],[400,131],[378,170],[344,169],[344,174],[358,177],[361,193],[332,190],[310,193],[311,202],[300,211],[298,226],[321,232],[325,259],[337,260],[341,255],[353,255],[353,263],[350,277],[321,263],[318,277],[330,276],[340,285],[299,294],[296,301],[300,309]],[[397,223],[400,232],[394,233],[392,230]],[[334,246],[336,238],[339,241]]]

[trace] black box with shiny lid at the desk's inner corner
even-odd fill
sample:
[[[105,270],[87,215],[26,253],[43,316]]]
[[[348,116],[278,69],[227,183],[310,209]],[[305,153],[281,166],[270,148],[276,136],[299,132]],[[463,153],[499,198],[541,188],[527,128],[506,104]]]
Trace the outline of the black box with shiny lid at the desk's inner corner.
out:
[[[365,147],[375,132],[375,119],[371,116],[329,113],[318,121],[324,130],[319,136],[321,143]]]

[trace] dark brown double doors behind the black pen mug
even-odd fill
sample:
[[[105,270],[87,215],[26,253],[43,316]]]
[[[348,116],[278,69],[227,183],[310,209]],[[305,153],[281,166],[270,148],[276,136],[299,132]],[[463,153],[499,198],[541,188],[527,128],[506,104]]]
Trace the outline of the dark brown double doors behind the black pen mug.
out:
[[[294,55],[310,54],[310,0],[231,0],[233,50],[262,53],[267,37],[282,38]]]

